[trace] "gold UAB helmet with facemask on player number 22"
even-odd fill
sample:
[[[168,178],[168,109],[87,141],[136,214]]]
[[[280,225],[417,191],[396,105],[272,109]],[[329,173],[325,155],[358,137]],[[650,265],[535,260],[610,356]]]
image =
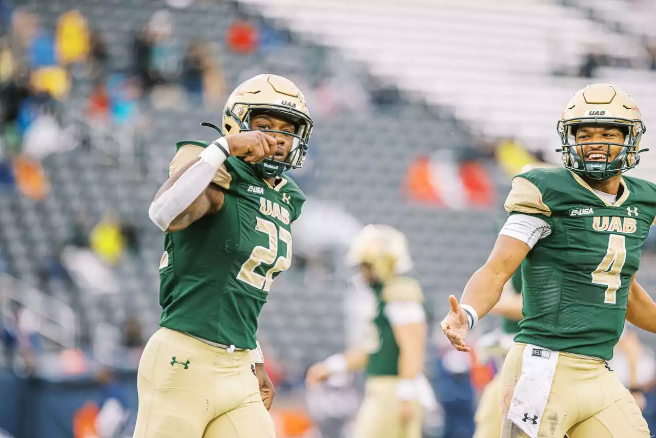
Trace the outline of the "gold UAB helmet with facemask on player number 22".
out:
[[[253,165],[256,171],[263,178],[273,178],[285,170],[302,167],[312,133],[312,119],[303,93],[285,77],[260,74],[243,81],[226,102],[221,127],[223,134],[251,131],[251,117],[262,112],[291,121],[296,132],[289,134],[274,129],[262,129],[274,136],[292,135],[294,140],[284,162],[266,158],[263,162]]]

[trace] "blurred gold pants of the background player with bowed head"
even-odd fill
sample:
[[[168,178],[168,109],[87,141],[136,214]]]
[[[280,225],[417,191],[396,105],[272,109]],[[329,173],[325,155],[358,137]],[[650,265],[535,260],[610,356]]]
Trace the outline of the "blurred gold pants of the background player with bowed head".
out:
[[[401,424],[396,398],[397,383],[398,378],[390,376],[367,379],[354,438],[421,438],[421,406],[416,403],[413,419]]]

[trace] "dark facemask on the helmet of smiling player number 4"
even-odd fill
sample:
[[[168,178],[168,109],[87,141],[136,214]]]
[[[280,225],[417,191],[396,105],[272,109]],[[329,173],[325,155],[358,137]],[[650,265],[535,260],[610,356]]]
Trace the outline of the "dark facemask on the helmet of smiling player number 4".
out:
[[[624,143],[577,142],[577,130],[583,125],[590,126],[595,123],[617,127],[623,131],[623,133],[625,133]],[[563,147],[559,149],[559,151],[562,152],[563,165],[567,167],[567,169],[593,180],[604,180],[621,175],[627,170],[636,167],[638,162],[640,162],[639,152],[647,150],[638,150],[638,143],[645,131],[645,126],[641,120],[629,120],[615,117],[581,117],[560,120],[558,121],[558,134],[560,135]],[[594,145],[602,146],[600,151],[605,153],[605,161],[586,162],[585,157],[581,155],[584,153],[585,146]],[[611,148],[613,146],[621,146],[622,149],[619,154],[611,160]],[[579,151],[581,154],[579,154]]]

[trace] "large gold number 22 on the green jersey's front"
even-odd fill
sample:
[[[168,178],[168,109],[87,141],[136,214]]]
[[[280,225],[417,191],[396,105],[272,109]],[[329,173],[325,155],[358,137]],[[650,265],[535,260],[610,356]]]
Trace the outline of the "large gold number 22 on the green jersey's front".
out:
[[[241,265],[237,279],[250,284],[254,288],[269,292],[271,284],[274,282],[274,274],[280,271],[287,271],[291,265],[291,233],[284,228],[278,229],[272,221],[267,221],[261,217],[256,218],[255,229],[264,232],[269,236],[269,246],[256,246],[251,252],[251,257]],[[279,231],[278,231],[279,230]],[[278,240],[287,244],[287,253],[285,257],[278,254]],[[262,263],[264,265],[273,265],[266,275],[262,276],[255,272],[255,269]]]

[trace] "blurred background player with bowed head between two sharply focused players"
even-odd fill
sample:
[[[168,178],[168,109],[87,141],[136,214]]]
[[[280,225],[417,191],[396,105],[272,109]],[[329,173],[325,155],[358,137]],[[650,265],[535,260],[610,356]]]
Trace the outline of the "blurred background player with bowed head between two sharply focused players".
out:
[[[367,225],[352,242],[349,259],[376,297],[371,336],[358,349],[312,365],[307,383],[365,368],[366,395],[353,436],[420,438],[420,399],[428,385],[422,372],[426,315],[419,283],[404,275],[411,269],[407,240],[392,227]]]

